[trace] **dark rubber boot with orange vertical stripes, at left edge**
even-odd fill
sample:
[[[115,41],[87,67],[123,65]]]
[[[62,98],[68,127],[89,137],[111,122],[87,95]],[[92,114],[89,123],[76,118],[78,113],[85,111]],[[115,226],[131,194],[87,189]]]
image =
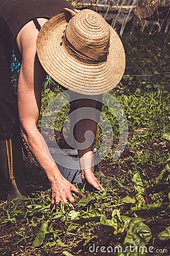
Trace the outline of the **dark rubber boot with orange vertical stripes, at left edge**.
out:
[[[18,203],[27,196],[20,136],[0,140],[0,171],[8,188],[7,201]]]

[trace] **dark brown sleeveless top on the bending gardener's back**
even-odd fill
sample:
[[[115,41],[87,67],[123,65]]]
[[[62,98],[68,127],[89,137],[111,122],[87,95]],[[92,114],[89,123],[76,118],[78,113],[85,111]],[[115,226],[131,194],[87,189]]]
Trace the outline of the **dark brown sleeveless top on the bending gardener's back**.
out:
[[[50,19],[65,7],[73,9],[66,0],[0,0],[0,32],[8,27],[19,60],[21,56],[16,46],[16,36],[22,27],[33,18]]]

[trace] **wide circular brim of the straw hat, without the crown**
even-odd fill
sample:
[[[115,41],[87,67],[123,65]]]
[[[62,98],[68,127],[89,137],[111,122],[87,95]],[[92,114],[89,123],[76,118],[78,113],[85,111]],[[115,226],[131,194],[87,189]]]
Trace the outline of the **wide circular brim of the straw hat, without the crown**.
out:
[[[42,67],[65,88],[87,95],[109,92],[121,80],[125,71],[125,52],[122,42],[111,26],[107,61],[85,63],[60,45],[66,27],[65,14],[53,16],[37,37],[37,55]]]

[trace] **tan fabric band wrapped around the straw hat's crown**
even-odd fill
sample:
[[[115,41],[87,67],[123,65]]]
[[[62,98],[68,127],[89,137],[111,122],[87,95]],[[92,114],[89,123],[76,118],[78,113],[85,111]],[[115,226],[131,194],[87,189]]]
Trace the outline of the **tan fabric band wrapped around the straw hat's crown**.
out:
[[[68,29],[66,29],[66,31],[65,31],[64,39],[65,38],[69,42],[70,46],[75,48],[80,53],[83,53],[83,55],[90,57],[90,59],[97,60],[97,61],[106,61],[107,60],[109,50],[99,51],[98,49],[87,46],[87,44],[82,43],[78,38],[76,38],[74,36],[74,33],[71,34],[71,31]]]

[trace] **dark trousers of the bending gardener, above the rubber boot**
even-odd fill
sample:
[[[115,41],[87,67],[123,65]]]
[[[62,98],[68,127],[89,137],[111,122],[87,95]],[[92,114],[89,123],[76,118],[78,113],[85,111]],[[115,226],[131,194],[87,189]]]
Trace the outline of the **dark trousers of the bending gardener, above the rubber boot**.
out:
[[[4,26],[0,31],[0,140],[19,134],[16,95],[11,85],[10,32]]]

